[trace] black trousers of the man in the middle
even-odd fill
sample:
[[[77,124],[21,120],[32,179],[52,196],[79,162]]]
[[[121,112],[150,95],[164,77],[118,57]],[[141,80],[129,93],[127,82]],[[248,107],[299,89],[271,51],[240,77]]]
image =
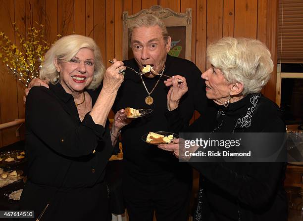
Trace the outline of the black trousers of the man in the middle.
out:
[[[187,221],[192,170],[186,173],[138,176],[124,172],[124,203],[130,221]]]

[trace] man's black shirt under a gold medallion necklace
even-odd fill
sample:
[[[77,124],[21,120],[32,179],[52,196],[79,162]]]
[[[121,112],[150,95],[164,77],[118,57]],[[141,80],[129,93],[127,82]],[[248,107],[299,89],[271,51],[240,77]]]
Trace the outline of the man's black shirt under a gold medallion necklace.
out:
[[[124,61],[126,66],[132,67],[139,72],[135,59]],[[180,101],[181,117],[189,124],[194,110],[202,111],[206,105],[206,96],[203,89],[204,81],[201,79],[201,71],[188,60],[171,57],[167,55],[164,73],[168,76],[181,75],[186,77],[189,91]],[[168,131],[168,122],[164,113],[167,110],[167,88],[163,81],[167,77],[156,76],[146,78],[142,76],[147,89],[151,92],[160,78],[158,85],[154,88],[151,96],[152,105],[145,103],[148,93],[142,83],[141,77],[135,72],[127,69],[124,82],[119,88],[117,98],[112,107],[114,112],[125,108],[152,109],[152,113],[141,118],[134,119],[131,124],[122,129],[123,159],[128,167],[128,172],[133,171],[145,173],[165,173],[165,171],[176,170],[178,160],[167,151],[157,148],[142,140],[142,135],[149,132]]]

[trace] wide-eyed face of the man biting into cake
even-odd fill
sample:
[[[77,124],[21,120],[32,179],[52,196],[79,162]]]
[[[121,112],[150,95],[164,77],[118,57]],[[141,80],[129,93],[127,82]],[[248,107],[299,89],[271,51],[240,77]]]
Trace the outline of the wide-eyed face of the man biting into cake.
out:
[[[135,60],[142,70],[145,65],[152,65],[153,70],[160,72],[165,64],[167,52],[170,49],[171,39],[165,43],[159,26],[134,28],[131,47]],[[152,73],[145,75],[154,77]]]

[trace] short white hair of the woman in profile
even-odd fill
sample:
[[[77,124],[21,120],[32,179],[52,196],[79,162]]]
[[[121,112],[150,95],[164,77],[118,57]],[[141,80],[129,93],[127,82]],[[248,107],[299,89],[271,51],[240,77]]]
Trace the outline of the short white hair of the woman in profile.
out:
[[[228,82],[244,85],[243,95],[260,92],[274,66],[265,44],[253,39],[222,38],[207,47],[206,56]]]

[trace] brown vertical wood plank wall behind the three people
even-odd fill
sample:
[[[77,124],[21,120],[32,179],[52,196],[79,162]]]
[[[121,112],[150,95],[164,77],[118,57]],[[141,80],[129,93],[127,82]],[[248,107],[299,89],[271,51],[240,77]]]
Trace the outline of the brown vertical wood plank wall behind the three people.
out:
[[[122,58],[122,11],[134,14],[156,4],[177,12],[193,9],[192,60],[202,72],[207,65],[206,45],[222,36],[257,38],[267,44],[277,63],[277,0],[0,0],[0,4],[0,31],[16,44],[12,23],[25,33],[37,21],[46,25],[49,40],[55,40],[58,33],[94,38],[106,66],[107,60]],[[272,100],[275,82],[273,74],[264,89]],[[23,90],[0,64],[0,123],[24,118]],[[23,138],[22,133],[15,136],[16,128],[0,131],[0,147]]]

